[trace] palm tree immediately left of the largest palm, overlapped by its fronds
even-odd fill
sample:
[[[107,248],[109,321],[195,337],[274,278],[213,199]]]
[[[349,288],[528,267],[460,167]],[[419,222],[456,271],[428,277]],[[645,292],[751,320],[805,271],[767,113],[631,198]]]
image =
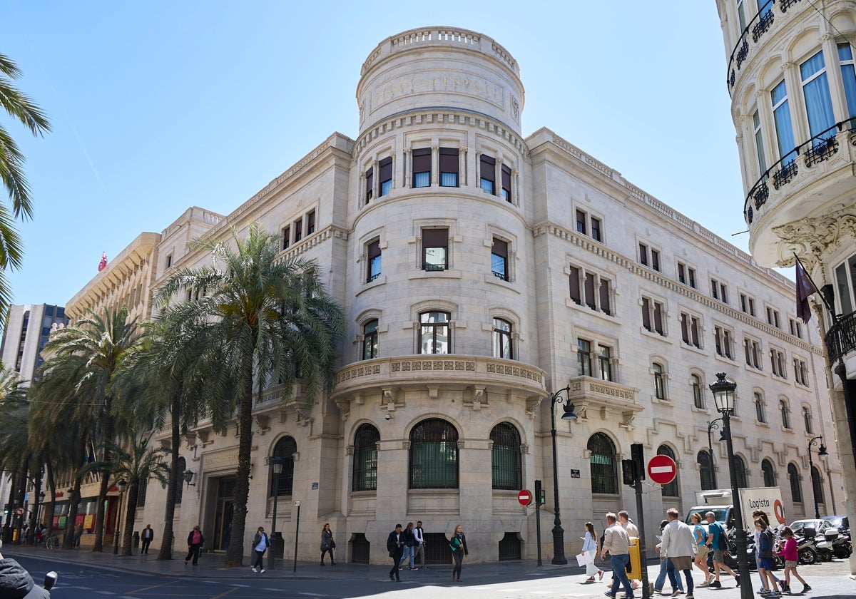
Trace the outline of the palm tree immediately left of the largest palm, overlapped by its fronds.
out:
[[[163,429],[169,417],[169,482],[163,508],[163,535],[158,560],[172,559],[173,519],[176,489],[183,482],[178,469],[181,434],[199,423],[205,414],[202,386],[194,382],[196,357],[204,351],[192,345],[190,335],[168,319],[146,323],[146,341],[134,359],[126,360],[116,377],[117,412],[128,412],[130,400],[151,412],[156,429]]]

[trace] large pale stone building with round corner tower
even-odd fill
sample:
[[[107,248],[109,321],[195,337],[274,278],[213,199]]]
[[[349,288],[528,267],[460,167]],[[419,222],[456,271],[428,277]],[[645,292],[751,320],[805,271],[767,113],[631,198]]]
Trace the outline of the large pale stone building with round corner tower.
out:
[[[520,69],[483,34],[383,40],[357,104],[355,139],[333,133],[207,228],[278,231],[282,257],[322,265],[350,325],[329,397],[306,407],[300,387],[273,387],[254,406],[248,531],[270,525],[276,495],[285,557],[300,501],[300,556],[317,555],[329,522],[340,559],[385,562],[393,525],[422,520],[429,560],[448,563],[458,524],[470,560],[533,558],[535,509],[517,494],[538,479],[544,554],[558,484],[570,555],[586,520],[635,512],[620,470],[633,442],[678,464],[675,483],[646,487],[655,531],[715,469],[728,486],[725,449],[707,442],[707,385],[722,371],[738,383],[741,482],[781,485],[788,514],[810,511],[806,440],[833,435],[819,337],[795,317],[792,282],[549,129],[524,138]],[[210,260],[187,248],[191,226],[161,234],[152,287]],[[555,480],[551,411],[564,400],[579,418],[556,417]],[[223,549],[236,457],[234,424],[189,431],[179,537],[201,524],[205,549]],[[835,455],[816,479],[835,511]],[[140,526],[163,513],[165,492],[146,495]]]

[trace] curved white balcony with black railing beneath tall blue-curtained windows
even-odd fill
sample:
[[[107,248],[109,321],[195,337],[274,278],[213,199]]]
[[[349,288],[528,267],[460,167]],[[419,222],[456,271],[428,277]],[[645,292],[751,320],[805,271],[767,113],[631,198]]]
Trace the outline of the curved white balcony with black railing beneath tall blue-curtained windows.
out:
[[[764,266],[776,266],[780,239],[773,229],[853,194],[856,167],[856,117],[835,123],[788,155],[755,182],[746,194],[743,217],[750,251]]]

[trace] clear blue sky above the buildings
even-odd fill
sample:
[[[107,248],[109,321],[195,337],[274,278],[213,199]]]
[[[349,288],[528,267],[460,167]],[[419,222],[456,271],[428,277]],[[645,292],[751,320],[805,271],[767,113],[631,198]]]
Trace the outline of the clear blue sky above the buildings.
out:
[[[101,252],[190,205],[228,214],[330,133],[354,138],[366,56],[438,25],[517,59],[525,135],[552,129],[746,249],[732,237],[746,226],[713,0],[429,6],[0,0],[0,52],[53,125],[34,139],[0,114],[35,203],[15,303],[64,305]]]

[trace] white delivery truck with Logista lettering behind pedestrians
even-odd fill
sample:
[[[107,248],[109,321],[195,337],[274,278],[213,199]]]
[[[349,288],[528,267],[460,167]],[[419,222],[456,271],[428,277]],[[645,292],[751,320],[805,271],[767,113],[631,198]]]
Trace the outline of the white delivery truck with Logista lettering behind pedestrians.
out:
[[[752,512],[763,510],[770,518],[770,526],[777,528],[787,525],[785,510],[782,504],[782,490],[778,487],[752,487],[748,489],[737,489],[740,496],[740,512],[743,516],[743,529],[750,534],[755,531],[755,523]],[[734,500],[731,489],[711,489],[709,491],[696,491],[696,505],[687,511],[687,524],[692,525],[690,516],[693,513],[701,513],[702,517],[707,512],[716,514],[716,521],[725,525],[726,528],[734,527]],[[704,525],[706,520],[702,520]]]

